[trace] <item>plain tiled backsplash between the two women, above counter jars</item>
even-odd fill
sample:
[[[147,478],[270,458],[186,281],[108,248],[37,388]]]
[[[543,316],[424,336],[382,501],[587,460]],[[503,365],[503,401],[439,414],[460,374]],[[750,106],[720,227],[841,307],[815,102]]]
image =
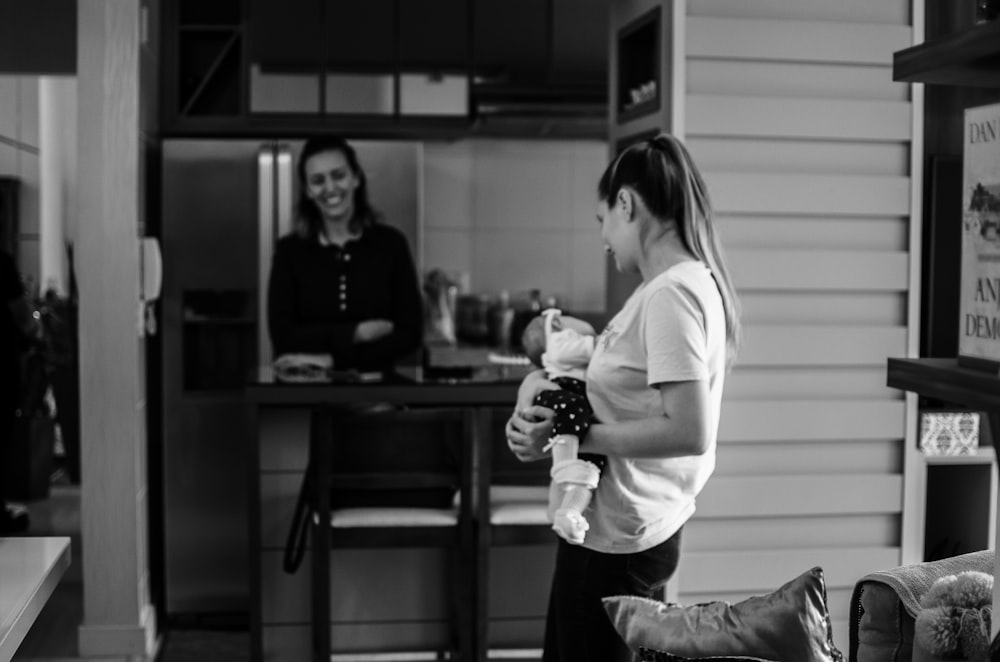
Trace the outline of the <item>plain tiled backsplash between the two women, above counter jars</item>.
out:
[[[575,311],[604,309],[594,216],[601,141],[463,140],[424,145],[424,269],[468,274],[473,292],[533,288]]]

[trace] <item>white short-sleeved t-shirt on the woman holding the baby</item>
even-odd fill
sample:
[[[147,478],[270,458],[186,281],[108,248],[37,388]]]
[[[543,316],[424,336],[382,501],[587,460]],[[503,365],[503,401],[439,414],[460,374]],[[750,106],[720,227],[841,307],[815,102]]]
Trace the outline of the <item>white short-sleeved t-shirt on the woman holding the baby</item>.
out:
[[[636,459],[608,456],[590,508],[584,546],[631,554],[664,542],[694,513],[695,496],[715,469],[726,372],[722,296],[701,262],[674,265],[640,285],[597,340],[587,396],[602,423],[661,416],[658,384],[706,380],[711,443],[703,455]]]

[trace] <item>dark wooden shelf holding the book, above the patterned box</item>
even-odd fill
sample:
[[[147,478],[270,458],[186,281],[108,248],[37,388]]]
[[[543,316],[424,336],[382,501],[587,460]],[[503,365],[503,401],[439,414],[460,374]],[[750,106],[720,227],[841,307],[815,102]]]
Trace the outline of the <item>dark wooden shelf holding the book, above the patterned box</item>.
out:
[[[1000,376],[958,359],[889,359],[886,385],[970,409],[1000,412]]]

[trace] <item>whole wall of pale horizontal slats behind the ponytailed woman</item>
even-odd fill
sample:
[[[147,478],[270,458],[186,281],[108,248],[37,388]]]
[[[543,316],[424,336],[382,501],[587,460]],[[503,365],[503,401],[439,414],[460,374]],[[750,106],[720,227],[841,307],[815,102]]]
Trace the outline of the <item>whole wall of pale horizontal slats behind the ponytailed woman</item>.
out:
[[[899,565],[910,322],[908,0],[687,0],[685,134],[744,302],[716,473],[685,529],[684,603]]]

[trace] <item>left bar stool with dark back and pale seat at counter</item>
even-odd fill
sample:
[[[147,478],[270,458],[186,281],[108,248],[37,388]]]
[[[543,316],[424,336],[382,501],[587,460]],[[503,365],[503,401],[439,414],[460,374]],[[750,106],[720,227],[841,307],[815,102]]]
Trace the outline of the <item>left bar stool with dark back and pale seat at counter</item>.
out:
[[[330,660],[332,549],[440,547],[452,557],[448,653],[471,660],[472,413],[414,409],[344,417],[320,408],[313,416],[313,659]]]

